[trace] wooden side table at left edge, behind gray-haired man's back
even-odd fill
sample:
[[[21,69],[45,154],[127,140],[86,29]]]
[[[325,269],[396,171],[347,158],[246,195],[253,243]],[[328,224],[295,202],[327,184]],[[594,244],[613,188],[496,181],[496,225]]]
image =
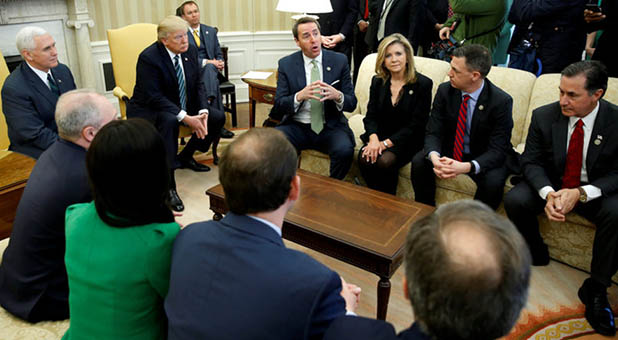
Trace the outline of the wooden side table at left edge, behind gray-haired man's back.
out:
[[[0,240],[11,235],[17,204],[36,160],[11,151],[0,151]]]

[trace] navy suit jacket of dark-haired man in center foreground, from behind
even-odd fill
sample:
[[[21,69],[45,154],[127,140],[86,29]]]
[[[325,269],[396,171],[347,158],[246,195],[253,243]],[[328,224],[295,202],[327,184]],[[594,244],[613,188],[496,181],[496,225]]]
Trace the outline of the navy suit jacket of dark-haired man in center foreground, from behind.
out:
[[[345,314],[337,273],[244,215],[200,222],[174,242],[169,339],[321,339]]]

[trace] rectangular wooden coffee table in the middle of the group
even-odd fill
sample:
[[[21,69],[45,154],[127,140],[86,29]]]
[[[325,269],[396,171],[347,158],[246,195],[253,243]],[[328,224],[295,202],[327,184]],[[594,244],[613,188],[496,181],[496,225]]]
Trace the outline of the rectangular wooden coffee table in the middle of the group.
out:
[[[434,208],[304,170],[300,198],[283,222],[283,238],[380,277],[377,318],[386,319],[390,278],[403,262],[410,225]],[[219,220],[228,209],[223,187],[206,191]]]

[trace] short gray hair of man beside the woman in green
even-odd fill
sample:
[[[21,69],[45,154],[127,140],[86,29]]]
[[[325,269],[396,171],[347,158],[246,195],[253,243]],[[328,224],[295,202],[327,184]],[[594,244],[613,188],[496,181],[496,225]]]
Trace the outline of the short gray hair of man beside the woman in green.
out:
[[[56,125],[62,139],[79,139],[83,128],[100,128],[103,121],[101,99],[105,97],[91,89],[79,89],[64,93],[56,104]]]

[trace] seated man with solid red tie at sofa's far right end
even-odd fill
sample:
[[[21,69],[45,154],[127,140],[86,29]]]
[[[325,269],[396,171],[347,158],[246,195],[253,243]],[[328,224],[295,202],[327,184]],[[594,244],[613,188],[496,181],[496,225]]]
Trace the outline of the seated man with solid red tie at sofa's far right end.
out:
[[[586,319],[603,335],[616,333],[606,287],[618,269],[618,107],[601,98],[607,70],[596,61],[567,66],[560,101],[532,113],[522,155],[525,181],[505,196],[508,217],[524,236],[532,263],[549,263],[536,215],[563,222],[575,211],[596,225],[591,277],[578,296]]]

